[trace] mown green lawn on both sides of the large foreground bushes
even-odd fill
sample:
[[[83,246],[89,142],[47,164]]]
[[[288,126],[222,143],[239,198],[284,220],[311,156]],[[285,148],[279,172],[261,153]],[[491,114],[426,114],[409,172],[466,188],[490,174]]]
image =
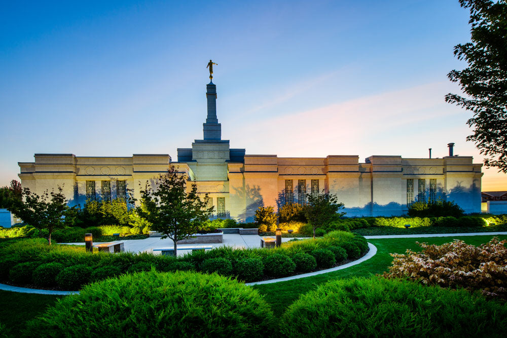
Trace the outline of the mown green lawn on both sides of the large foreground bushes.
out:
[[[492,237],[491,235],[463,236],[457,239],[462,239],[468,244],[479,245],[488,242]],[[507,239],[507,235],[498,237]],[[319,284],[335,278],[367,277],[386,271],[392,260],[392,257],[389,256],[390,252],[404,253],[408,248],[417,249],[416,241],[443,244],[453,239],[454,237],[372,239],[369,242],[377,247],[377,254],[359,265],[329,274],[253,287],[266,296],[266,300],[271,304],[275,315],[279,316],[301,294],[315,289]],[[59,297],[61,296],[0,291],[0,323],[4,324],[9,330],[9,336],[18,336],[20,329],[27,320],[42,313],[48,306],[53,305]],[[1,336],[2,332],[0,332]]]

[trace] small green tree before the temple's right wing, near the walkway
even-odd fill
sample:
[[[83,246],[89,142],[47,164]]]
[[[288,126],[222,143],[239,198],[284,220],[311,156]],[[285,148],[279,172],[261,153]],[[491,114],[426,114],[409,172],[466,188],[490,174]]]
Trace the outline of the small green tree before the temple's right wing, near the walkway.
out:
[[[345,215],[345,212],[338,212],[343,207],[343,203],[338,203],[338,197],[335,194],[322,193],[312,195],[306,194],[307,205],[305,205],[305,216],[313,228],[313,238],[315,230],[329,224],[336,218]]]

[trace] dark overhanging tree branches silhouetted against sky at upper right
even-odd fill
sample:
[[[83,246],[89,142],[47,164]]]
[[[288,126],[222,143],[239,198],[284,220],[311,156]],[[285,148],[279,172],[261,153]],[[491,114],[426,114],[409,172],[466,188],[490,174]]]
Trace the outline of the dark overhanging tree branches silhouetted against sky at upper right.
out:
[[[465,97],[447,94],[446,102],[472,111],[467,124],[484,164],[507,172],[507,1],[459,0],[469,8],[471,42],[454,47],[458,60],[468,67],[452,70],[447,77],[459,83]]]

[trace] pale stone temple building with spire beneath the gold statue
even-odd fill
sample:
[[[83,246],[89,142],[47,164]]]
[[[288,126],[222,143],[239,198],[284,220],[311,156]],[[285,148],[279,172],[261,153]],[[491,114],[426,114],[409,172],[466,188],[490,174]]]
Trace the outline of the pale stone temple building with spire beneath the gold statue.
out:
[[[222,139],[216,115],[216,86],[206,86],[207,117],[203,138],[191,148],[177,149],[177,162],[167,154],[132,157],[77,157],[73,154],[35,154],[35,162],[20,162],[21,184],[42,194],[62,186],[70,205],[87,199],[123,197],[127,188],[139,199],[139,183],[167,172],[170,165],[185,172],[208,193],[213,217],[252,221],[259,206],[306,202],[306,194],[322,190],[338,196],[346,216],[402,215],[418,200],[454,201],[466,213],[481,212],[482,164],[471,156],[402,158],[357,155],[325,158],[283,158],[246,155]]]

